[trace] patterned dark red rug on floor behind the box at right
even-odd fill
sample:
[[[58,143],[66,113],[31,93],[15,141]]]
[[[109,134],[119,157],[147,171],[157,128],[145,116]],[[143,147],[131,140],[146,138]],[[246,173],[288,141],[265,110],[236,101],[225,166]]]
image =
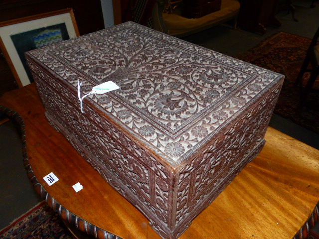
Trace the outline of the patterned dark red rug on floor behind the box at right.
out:
[[[279,32],[237,58],[285,75],[275,114],[319,133],[319,91],[312,92],[304,107],[298,111],[300,88],[294,84],[310,41],[309,38]],[[309,74],[305,74],[305,79],[307,77]],[[315,88],[319,88],[319,79]]]

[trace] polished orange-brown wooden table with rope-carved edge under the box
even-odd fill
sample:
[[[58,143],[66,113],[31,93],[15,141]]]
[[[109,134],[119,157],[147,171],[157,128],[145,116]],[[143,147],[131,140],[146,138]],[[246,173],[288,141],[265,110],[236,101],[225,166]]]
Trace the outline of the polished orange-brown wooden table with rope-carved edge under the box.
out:
[[[28,176],[65,221],[96,238],[160,238],[148,220],[47,123],[33,83],[5,93],[0,105],[24,120]],[[18,115],[6,114],[22,124]],[[291,239],[296,233],[296,239],[305,238],[307,226],[318,221],[319,151],[271,127],[265,139],[262,152],[180,239]],[[42,179],[50,172],[59,178],[52,186]],[[72,185],[77,182],[83,189],[76,193]]]

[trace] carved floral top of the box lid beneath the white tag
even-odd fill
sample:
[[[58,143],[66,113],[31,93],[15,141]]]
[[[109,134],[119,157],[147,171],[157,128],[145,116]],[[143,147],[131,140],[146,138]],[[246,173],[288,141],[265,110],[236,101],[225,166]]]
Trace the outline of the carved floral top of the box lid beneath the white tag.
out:
[[[192,157],[283,76],[133,22],[30,51],[86,103],[172,166]],[[80,110],[80,102],[79,110]],[[85,114],[85,108],[84,108]]]

